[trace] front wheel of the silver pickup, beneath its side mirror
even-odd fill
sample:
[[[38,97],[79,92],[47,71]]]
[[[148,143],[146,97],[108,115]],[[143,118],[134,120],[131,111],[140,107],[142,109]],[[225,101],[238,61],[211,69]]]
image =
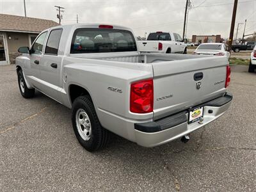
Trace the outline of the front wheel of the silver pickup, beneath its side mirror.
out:
[[[22,95],[22,97],[24,97],[26,99],[34,97],[35,89],[28,88],[26,81],[24,79],[22,70],[18,71],[18,83],[19,83],[20,94]]]

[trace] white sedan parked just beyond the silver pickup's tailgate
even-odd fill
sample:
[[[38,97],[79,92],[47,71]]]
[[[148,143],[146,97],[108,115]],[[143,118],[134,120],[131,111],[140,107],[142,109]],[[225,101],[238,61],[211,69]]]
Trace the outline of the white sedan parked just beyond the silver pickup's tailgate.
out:
[[[222,43],[200,44],[193,53],[209,54],[209,55],[216,55],[216,56],[227,56],[227,58],[230,58],[230,52],[228,51],[227,46]]]

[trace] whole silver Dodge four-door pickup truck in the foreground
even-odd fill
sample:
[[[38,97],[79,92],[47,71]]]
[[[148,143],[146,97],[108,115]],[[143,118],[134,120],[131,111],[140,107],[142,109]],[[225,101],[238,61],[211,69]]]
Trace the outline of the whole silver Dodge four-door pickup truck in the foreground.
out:
[[[20,93],[35,89],[72,108],[77,140],[89,151],[109,131],[144,147],[187,136],[227,111],[225,56],[141,53],[131,29],[103,24],[42,31],[16,58]]]

